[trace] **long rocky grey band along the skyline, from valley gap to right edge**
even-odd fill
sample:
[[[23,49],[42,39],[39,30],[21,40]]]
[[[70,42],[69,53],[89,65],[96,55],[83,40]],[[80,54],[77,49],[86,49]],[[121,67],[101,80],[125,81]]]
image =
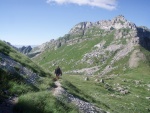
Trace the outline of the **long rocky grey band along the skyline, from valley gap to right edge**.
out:
[[[84,39],[81,39],[81,37],[86,38],[86,36],[85,36],[86,32],[89,32],[90,29],[94,30],[94,27],[96,27],[102,31],[105,31],[106,33],[116,30],[116,37],[121,38],[121,37],[123,37],[123,35],[127,35],[126,37],[135,37],[136,41],[140,40],[139,37],[144,37],[142,35],[146,34],[145,32],[147,32],[148,35],[146,35],[146,37],[148,37],[148,40],[150,39],[150,37],[149,37],[150,30],[148,28],[138,27],[134,23],[127,21],[123,15],[119,15],[119,16],[113,18],[112,20],[101,20],[101,21],[97,21],[94,23],[80,22],[80,23],[76,24],[74,27],[72,27],[70,29],[70,31],[68,32],[68,34],[66,34],[63,37],[60,37],[56,40],[52,39],[49,42],[45,42],[42,45],[35,47],[29,54],[38,55],[39,53],[43,52],[47,48],[55,48],[56,49],[64,44],[69,45],[69,44],[73,44],[73,43],[77,43],[77,42],[82,42]],[[126,34],[119,32],[119,30],[121,30],[121,29],[126,29]],[[128,34],[129,29],[132,30],[130,35]],[[106,33],[101,33],[101,31],[98,31],[95,35],[100,36],[101,34],[105,35]],[[140,40],[140,41],[142,41],[142,40]],[[143,46],[145,46],[145,45],[143,45]],[[149,45],[146,45],[146,46],[148,49],[150,49]]]

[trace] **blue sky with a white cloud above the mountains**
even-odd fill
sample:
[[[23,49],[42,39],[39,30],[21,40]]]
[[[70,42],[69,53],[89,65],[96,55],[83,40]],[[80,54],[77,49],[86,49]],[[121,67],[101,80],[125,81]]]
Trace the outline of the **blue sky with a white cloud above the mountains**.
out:
[[[150,28],[150,0],[0,0],[0,39],[40,45],[64,36],[79,22],[117,15]]]

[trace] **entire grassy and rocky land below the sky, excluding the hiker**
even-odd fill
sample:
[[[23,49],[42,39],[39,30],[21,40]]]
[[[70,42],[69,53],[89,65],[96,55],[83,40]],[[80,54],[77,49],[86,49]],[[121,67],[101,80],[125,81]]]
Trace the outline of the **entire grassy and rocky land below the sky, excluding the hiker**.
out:
[[[0,41],[2,110],[5,100],[18,99],[16,113],[150,112],[150,30],[122,15],[80,22],[63,37],[22,49],[31,59]],[[48,72],[58,65],[63,75],[55,81]]]

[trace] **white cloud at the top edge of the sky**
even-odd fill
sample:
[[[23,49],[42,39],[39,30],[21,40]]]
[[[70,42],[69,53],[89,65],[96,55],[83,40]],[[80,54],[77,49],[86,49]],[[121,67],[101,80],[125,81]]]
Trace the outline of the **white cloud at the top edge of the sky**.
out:
[[[89,5],[96,6],[108,10],[114,10],[117,7],[117,0],[47,0],[47,3],[57,4],[78,4],[78,5]]]

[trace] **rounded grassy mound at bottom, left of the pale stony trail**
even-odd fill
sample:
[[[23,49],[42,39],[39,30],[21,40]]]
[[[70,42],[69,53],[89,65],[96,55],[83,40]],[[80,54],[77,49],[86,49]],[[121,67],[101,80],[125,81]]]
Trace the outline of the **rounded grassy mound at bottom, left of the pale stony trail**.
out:
[[[20,96],[13,110],[17,113],[77,113],[73,106],[57,100],[48,91]]]

